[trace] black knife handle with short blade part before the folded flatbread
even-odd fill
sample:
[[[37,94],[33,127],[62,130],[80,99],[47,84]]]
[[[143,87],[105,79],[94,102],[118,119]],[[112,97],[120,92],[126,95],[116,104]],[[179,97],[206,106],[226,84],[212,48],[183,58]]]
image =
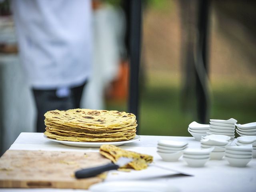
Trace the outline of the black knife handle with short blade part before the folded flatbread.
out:
[[[116,170],[132,161],[132,158],[120,157],[116,163],[78,170],[75,172],[75,176],[78,179],[96,176],[105,171]]]

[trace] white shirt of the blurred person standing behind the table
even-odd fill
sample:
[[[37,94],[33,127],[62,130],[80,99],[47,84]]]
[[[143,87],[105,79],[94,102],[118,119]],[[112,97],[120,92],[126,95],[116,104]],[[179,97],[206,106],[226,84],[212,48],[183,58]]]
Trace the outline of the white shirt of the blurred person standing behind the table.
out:
[[[79,86],[90,75],[90,0],[12,0],[19,53],[33,88]]]

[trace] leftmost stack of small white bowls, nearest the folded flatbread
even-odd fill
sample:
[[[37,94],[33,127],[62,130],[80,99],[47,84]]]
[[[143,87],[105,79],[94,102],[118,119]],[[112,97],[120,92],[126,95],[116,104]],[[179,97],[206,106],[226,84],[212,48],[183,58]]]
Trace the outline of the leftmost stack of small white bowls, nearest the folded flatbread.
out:
[[[182,156],[183,150],[188,146],[187,142],[159,140],[157,153],[164,161],[178,161]]]

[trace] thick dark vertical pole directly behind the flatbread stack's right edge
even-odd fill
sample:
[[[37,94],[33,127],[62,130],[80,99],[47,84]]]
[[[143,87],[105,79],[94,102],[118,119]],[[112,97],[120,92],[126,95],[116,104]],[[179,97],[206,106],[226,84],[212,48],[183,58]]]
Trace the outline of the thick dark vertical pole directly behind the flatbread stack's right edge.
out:
[[[138,118],[142,0],[130,0],[130,91],[128,111]],[[137,129],[138,131],[138,129]]]

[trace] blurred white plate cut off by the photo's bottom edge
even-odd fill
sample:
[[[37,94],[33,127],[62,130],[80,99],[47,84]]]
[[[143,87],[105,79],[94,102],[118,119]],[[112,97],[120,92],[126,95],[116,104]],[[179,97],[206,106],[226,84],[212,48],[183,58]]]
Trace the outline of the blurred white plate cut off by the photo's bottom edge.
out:
[[[179,192],[180,190],[164,182],[112,181],[90,186],[91,192]]]

